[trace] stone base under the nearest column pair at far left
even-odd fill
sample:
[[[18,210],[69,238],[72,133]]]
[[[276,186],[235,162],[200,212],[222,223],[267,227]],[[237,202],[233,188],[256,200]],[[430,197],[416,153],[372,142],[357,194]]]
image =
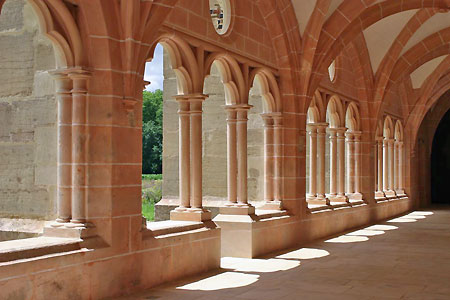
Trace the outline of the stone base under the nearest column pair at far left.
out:
[[[53,222],[44,227],[44,236],[60,238],[88,238],[97,234],[91,223]]]

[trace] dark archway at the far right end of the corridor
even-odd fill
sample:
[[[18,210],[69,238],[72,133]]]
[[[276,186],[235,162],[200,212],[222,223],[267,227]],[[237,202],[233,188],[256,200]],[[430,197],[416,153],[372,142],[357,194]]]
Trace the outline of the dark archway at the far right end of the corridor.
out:
[[[450,110],[439,123],[431,149],[431,201],[450,204]]]

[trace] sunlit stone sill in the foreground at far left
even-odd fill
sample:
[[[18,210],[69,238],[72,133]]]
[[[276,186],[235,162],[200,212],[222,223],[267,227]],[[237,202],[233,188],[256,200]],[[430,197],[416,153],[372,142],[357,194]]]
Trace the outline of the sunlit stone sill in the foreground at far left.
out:
[[[81,239],[36,237],[0,243],[0,266],[16,260],[81,250]]]

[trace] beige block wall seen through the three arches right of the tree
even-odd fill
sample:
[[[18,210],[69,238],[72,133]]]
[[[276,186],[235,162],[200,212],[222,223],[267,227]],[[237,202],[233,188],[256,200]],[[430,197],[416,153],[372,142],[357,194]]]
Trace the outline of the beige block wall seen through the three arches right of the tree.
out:
[[[224,87],[214,65],[211,75],[205,79],[204,93],[209,97],[203,104],[203,204],[216,206],[227,198],[227,125],[223,107]],[[176,94],[175,73],[170,68],[169,57],[164,53],[163,199],[172,200],[178,198],[178,104],[173,99]],[[264,128],[260,116],[263,112],[262,101],[258,86],[255,85],[250,90],[249,104],[253,107],[248,116],[250,201],[264,200]],[[174,202],[171,201],[171,204]]]

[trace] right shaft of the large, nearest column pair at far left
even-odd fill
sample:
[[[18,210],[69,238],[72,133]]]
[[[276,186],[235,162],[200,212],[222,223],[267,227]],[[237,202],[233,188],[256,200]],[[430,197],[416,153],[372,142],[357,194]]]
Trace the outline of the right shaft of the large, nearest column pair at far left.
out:
[[[87,142],[87,84],[90,74],[70,72],[72,89],[72,219],[84,226],[86,222],[86,142]]]

